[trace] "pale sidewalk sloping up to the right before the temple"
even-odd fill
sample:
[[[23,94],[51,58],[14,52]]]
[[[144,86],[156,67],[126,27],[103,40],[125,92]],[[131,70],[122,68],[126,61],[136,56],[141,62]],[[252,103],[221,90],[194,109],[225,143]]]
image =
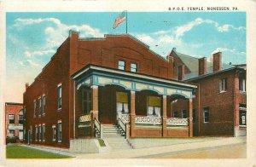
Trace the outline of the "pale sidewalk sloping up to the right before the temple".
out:
[[[174,144],[165,147],[149,147],[120,150],[111,153],[77,153],[76,158],[154,158],[155,155],[175,154],[188,151],[199,151],[212,147],[224,147],[246,143],[246,136],[221,138],[219,140],[195,141]]]

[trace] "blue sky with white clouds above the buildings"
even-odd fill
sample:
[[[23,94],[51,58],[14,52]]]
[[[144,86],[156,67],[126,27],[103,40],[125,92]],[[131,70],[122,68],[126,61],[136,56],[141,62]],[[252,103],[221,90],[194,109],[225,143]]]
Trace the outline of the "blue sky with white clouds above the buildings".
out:
[[[5,101],[23,102],[25,83],[49,62],[68,37],[104,37],[125,33],[125,23],[113,29],[120,12],[7,13]],[[128,12],[127,32],[166,57],[172,48],[197,58],[221,51],[223,62],[246,63],[245,12]]]

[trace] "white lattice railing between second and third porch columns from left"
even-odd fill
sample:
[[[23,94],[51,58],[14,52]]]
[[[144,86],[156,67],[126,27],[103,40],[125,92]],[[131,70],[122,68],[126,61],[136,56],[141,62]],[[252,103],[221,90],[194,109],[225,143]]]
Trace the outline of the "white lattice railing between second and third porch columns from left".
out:
[[[154,116],[136,116],[135,124],[162,124],[162,118]]]

